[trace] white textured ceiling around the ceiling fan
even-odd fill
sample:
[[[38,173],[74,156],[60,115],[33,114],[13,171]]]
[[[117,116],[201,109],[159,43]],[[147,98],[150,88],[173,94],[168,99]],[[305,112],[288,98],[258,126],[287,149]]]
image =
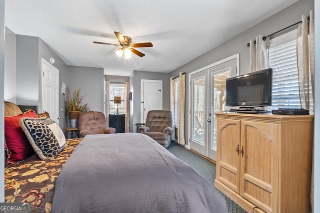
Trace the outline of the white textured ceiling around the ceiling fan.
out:
[[[40,37],[68,65],[168,73],[297,0],[5,0],[5,25]],[[144,57],[111,55],[113,31],[130,36]]]

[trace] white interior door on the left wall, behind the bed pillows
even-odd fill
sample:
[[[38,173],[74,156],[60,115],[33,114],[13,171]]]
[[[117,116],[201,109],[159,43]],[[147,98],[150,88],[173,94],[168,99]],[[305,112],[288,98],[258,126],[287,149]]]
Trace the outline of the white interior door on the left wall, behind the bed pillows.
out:
[[[41,59],[41,110],[47,111],[50,118],[59,124],[59,70]]]

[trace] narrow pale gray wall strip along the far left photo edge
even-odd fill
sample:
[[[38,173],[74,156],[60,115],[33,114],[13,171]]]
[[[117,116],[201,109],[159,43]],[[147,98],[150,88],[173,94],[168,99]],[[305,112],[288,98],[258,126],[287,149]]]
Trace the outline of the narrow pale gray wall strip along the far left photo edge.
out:
[[[0,100],[4,100],[4,0],[0,0]],[[0,138],[4,138],[4,102],[0,103]],[[0,140],[4,150],[4,142]],[[4,161],[4,152],[0,152],[0,161]],[[4,202],[4,164],[0,164],[0,203]]]

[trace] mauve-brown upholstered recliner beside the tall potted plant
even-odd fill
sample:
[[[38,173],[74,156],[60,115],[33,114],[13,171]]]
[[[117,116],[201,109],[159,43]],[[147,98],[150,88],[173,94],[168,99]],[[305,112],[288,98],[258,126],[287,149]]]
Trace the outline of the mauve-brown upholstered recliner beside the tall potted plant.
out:
[[[90,134],[112,134],[115,132],[113,127],[106,127],[104,114],[97,111],[80,113],[78,127],[81,137]]]

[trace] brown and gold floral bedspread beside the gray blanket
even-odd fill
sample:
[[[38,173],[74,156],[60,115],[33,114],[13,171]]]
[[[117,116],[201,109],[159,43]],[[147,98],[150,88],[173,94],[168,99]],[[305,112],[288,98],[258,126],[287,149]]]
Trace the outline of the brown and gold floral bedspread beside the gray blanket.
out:
[[[81,139],[66,140],[67,148],[52,161],[37,155],[4,168],[4,200],[6,203],[31,203],[32,213],[50,213],[55,180],[66,160]]]

